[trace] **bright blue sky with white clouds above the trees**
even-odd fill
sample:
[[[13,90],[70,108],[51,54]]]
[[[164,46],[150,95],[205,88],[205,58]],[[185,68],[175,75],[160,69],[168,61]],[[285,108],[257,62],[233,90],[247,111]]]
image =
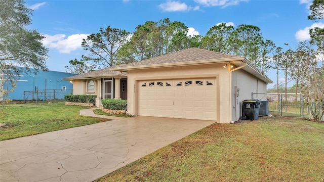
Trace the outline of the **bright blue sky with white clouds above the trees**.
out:
[[[27,28],[36,29],[46,37],[49,70],[62,72],[69,60],[87,55],[81,47],[82,38],[108,25],[133,32],[146,21],[170,18],[188,26],[190,34],[205,36],[217,23],[234,27],[251,24],[261,29],[265,39],[284,49],[288,48],[284,43],[295,48],[299,41],[309,39],[310,27],[324,27],[321,22],[307,20],[310,0],[26,0],[25,3],[33,9],[32,24]],[[275,74],[268,76],[276,80]]]

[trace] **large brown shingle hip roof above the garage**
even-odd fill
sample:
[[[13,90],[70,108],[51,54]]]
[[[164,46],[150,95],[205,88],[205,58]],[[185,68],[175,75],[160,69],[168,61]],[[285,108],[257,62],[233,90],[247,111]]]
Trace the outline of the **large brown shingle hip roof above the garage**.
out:
[[[157,65],[157,64],[167,64],[167,63],[181,63],[181,62],[190,62],[190,61],[216,60],[216,59],[236,58],[236,57],[239,56],[217,53],[214,51],[208,51],[208,50],[198,49],[198,48],[189,48],[186,50],[142,60],[139,62],[114,66],[113,68],[142,66],[142,65]]]

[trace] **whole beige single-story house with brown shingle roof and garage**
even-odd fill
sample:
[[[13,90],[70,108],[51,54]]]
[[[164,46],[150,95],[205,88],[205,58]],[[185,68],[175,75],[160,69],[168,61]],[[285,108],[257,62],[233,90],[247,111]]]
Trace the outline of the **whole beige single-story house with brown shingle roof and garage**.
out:
[[[96,106],[103,98],[125,99],[118,95],[124,80],[129,114],[220,123],[237,121],[241,101],[272,83],[244,57],[198,48],[65,79],[73,80],[73,94],[97,94]]]

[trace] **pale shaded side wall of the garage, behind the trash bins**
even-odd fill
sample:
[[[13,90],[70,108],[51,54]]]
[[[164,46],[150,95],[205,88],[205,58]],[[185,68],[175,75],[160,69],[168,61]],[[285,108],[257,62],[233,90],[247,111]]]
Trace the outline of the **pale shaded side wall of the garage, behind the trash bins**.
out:
[[[234,86],[239,88],[237,102],[234,98]],[[232,121],[237,121],[242,115],[242,100],[252,99],[253,93],[266,93],[267,83],[256,78],[255,76],[243,71],[236,70],[232,72]],[[257,99],[257,98],[254,98]],[[236,117],[235,117],[236,107]]]

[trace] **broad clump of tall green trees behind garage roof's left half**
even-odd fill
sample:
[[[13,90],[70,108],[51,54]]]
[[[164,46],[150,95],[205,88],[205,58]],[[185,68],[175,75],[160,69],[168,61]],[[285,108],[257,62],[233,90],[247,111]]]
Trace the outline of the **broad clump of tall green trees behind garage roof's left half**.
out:
[[[201,36],[188,36],[188,27],[169,18],[138,25],[130,41],[117,52],[117,63],[141,61],[187,48],[200,47]]]

